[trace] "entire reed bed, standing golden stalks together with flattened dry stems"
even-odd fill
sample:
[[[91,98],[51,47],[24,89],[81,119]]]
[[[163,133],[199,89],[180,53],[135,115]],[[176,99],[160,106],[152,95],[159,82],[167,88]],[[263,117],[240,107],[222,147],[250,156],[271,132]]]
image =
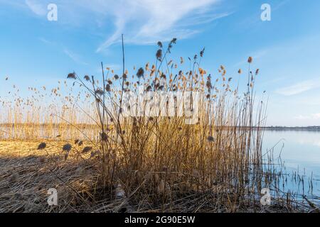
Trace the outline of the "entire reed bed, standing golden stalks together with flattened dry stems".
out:
[[[3,102],[9,106],[1,118],[4,147],[17,139],[38,144],[30,142],[35,157],[30,150],[11,157],[1,149],[1,165],[6,167],[1,170],[1,198],[13,196],[0,199],[2,211],[30,211],[26,203],[17,205],[12,198],[29,194],[40,198],[43,187],[51,186],[65,187],[62,204],[49,209],[41,201],[32,206],[34,211],[310,210],[276,187],[281,170],[273,165],[270,153],[262,153],[267,105],[255,101],[259,70],[252,70],[252,57],[247,60],[247,72],[238,71],[247,86],[233,88],[223,65],[215,75],[201,68],[205,49],[187,63],[182,57],[178,62],[170,60],[175,44],[173,39],[164,48],[159,42],[154,65],[134,68],[132,76],[125,70],[123,56],[121,76],[101,64],[100,77],[68,74],[70,82],[63,85],[70,86],[68,96],[59,93],[59,86],[50,95],[31,89],[37,97],[31,101],[16,97],[14,102]],[[161,108],[171,105],[169,101],[149,106],[153,98],[147,99],[140,109],[126,101],[128,92],[141,91],[181,92],[190,94],[191,100],[203,94],[204,98],[194,108],[175,96],[168,114],[169,108]],[[53,104],[43,106],[41,98],[49,96]],[[186,113],[178,114],[179,103],[196,116],[192,124],[186,123],[190,120]],[[128,116],[128,111],[133,114]],[[11,180],[14,183],[8,184]],[[34,194],[38,185],[44,186]],[[270,206],[260,203],[263,188],[272,191]]]

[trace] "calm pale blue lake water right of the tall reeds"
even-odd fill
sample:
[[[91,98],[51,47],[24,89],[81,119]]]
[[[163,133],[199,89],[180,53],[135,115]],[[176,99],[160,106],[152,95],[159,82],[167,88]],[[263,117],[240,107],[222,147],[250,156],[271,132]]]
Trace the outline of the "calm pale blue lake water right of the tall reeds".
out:
[[[266,130],[263,154],[274,147],[274,157],[281,154],[288,175],[286,189],[306,195],[320,196],[320,131]],[[304,185],[292,181],[292,172],[304,176]],[[309,181],[312,179],[312,187]]]

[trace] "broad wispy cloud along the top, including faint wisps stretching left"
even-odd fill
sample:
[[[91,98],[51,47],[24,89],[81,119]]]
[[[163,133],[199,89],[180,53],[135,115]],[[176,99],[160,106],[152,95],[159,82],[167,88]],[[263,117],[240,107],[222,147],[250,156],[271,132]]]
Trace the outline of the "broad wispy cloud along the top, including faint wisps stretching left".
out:
[[[56,0],[55,4],[59,15],[63,15],[58,18],[62,23],[73,21],[79,26],[80,21],[87,23],[87,18],[97,22],[98,32],[105,33],[105,40],[97,47],[97,52],[100,52],[119,43],[122,33],[126,43],[137,45],[189,38],[201,32],[201,24],[230,15],[228,12],[215,12],[215,6],[221,1],[91,0],[88,4],[87,0]],[[46,13],[49,3],[48,0],[26,0],[28,7],[37,15]]]

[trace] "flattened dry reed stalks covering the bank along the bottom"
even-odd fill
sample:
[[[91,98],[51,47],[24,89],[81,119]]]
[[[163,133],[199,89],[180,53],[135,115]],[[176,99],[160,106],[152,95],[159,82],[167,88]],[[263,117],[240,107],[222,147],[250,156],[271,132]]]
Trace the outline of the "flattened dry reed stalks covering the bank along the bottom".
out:
[[[164,204],[151,201],[146,194],[136,197],[127,191],[125,196],[103,190],[98,184],[98,159],[88,154],[85,160],[71,153],[64,160],[63,143],[48,141],[46,152],[37,150],[38,141],[0,142],[0,212],[230,212],[228,197],[222,186],[175,194]],[[137,172],[137,175],[143,175]],[[155,175],[156,173],[154,173]],[[161,175],[161,173],[157,173]],[[168,173],[167,173],[168,174]],[[180,183],[183,183],[182,181]],[[48,206],[47,191],[58,190],[58,206]],[[219,193],[221,192],[221,194]],[[119,188],[118,192],[119,194]],[[131,196],[129,196],[131,194]],[[230,194],[230,196],[232,196]],[[299,212],[313,210],[308,204],[294,206],[286,198],[277,199],[272,206],[238,206],[238,212]],[[297,204],[296,204],[297,205]],[[303,208],[303,209],[302,209]]]

